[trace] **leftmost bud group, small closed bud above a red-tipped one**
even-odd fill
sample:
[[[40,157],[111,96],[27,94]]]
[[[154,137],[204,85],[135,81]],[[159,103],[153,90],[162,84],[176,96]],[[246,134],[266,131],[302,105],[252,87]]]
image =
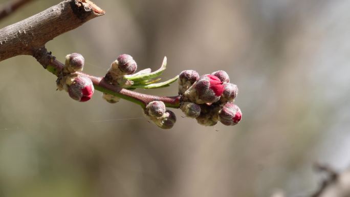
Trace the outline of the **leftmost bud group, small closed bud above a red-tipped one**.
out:
[[[65,56],[65,64],[57,79],[58,90],[65,90],[74,100],[85,102],[94,94],[94,85],[90,78],[80,75],[84,67],[84,57],[79,53]]]

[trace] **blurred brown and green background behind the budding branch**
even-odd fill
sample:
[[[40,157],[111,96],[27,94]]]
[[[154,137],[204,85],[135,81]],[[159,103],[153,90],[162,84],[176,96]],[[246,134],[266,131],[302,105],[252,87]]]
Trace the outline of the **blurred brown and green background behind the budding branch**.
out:
[[[1,4],[9,1],[0,0]],[[0,28],[60,1],[37,0]],[[350,164],[350,1],[117,0],[47,44],[103,76],[119,54],[163,78],[225,70],[243,120],[162,130],[127,101],[79,103],[30,56],[0,62],[0,196],[308,196]],[[148,94],[176,95],[177,84]]]

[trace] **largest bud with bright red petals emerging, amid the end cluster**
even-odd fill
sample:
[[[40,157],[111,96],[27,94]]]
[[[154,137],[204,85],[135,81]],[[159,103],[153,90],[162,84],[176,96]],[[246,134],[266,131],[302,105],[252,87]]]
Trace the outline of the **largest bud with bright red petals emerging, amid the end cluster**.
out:
[[[214,75],[203,75],[185,93],[184,99],[197,104],[213,103],[224,92],[223,82]]]

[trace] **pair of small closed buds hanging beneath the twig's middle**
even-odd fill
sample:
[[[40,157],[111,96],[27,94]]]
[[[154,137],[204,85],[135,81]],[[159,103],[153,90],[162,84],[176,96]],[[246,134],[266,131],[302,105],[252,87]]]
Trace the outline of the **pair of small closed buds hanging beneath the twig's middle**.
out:
[[[144,115],[163,129],[171,128],[176,122],[176,116],[170,110],[166,110],[162,101],[151,101],[144,109]]]

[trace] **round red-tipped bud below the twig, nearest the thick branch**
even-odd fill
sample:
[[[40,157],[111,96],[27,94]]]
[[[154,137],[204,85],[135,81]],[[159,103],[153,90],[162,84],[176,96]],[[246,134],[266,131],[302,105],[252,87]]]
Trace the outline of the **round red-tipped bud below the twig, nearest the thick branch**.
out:
[[[88,101],[94,94],[94,85],[90,78],[78,76],[69,85],[68,94],[74,100],[80,102]]]

